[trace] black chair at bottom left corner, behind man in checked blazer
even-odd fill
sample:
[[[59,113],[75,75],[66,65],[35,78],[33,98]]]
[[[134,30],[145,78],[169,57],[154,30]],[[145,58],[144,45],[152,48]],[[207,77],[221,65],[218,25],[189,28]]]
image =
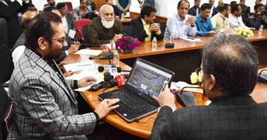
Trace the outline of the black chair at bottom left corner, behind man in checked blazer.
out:
[[[10,113],[11,101],[8,98],[8,94],[5,92],[2,84],[0,84],[0,139],[6,139],[8,136],[8,128],[5,123],[5,117]]]

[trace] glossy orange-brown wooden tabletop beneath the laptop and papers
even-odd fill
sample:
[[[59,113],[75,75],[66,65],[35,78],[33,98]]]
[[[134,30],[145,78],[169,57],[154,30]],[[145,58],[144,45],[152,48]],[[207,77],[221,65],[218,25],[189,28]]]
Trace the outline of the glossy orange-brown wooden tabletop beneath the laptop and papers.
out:
[[[64,61],[67,64],[71,63],[77,63],[81,61],[88,61],[88,55],[69,55],[64,59]],[[108,63],[108,60],[99,60],[94,59],[93,60],[95,64],[99,66],[103,66],[104,64]],[[123,64],[123,62],[120,62],[120,67],[123,68],[123,70],[129,70],[131,69],[129,66]],[[98,98],[98,95],[101,94],[103,89],[100,89],[97,92],[82,92],[84,98],[86,98],[86,101],[90,105],[92,109],[95,109],[97,105],[100,103],[100,100]],[[110,89],[107,89],[105,92],[109,92]],[[199,91],[199,90],[198,90]],[[256,102],[266,102],[267,101],[267,84],[264,83],[257,83],[255,89],[253,90],[253,93],[251,96],[253,96],[254,100]],[[198,105],[205,104],[205,101],[207,100],[206,97],[203,98],[203,100],[196,100]],[[176,102],[176,107],[181,108],[181,105]],[[114,113],[113,111],[105,117],[105,121],[109,124],[112,124],[112,126],[115,126],[116,128],[119,128],[121,130],[124,130],[125,132],[129,132],[132,135],[136,135],[138,137],[148,138],[151,134],[151,130],[153,127],[153,123],[155,122],[155,118],[157,117],[157,113],[153,113],[147,117],[144,117],[139,120],[139,122],[132,122],[128,123],[125,122],[119,115]]]

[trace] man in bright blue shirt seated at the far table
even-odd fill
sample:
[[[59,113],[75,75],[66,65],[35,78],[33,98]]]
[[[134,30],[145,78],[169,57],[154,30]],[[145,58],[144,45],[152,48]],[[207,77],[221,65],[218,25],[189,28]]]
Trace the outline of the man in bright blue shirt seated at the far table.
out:
[[[217,33],[209,18],[211,8],[208,3],[201,5],[201,14],[196,16],[196,36],[213,36]]]

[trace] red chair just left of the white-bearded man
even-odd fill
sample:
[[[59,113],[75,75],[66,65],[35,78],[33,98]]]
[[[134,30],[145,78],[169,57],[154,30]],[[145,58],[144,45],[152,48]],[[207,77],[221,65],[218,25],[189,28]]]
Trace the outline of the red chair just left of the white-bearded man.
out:
[[[76,36],[80,42],[84,42],[84,25],[89,25],[90,23],[90,19],[79,19],[75,21]]]

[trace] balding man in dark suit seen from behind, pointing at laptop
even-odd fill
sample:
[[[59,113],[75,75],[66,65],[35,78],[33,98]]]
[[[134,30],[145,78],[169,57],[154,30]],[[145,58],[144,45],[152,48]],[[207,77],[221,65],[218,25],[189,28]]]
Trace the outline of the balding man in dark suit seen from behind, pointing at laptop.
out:
[[[266,139],[267,103],[257,104],[249,95],[257,83],[257,62],[246,38],[212,38],[201,64],[203,91],[212,103],[175,111],[175,97],[166,86],[150,139]]]

